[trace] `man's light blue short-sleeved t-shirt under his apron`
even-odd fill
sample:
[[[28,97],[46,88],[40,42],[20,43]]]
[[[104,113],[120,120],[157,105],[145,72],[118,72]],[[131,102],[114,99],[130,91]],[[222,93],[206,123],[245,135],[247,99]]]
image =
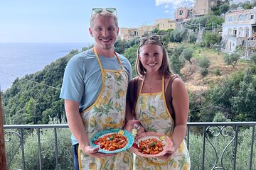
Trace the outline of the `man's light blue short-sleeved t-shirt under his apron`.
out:
[[[129,80],[132,76],[132,67],[127,58],[117,54]],[[117,57],[102,57],[99,55],[103,69],[121,69]],[[102,75],[100,65],[92,49],[80,52],[73,56],[65,68],[60,98],[80,102],[80,112],[90,107],[102,89]],[[72,144],[77,144],[72,136]]]

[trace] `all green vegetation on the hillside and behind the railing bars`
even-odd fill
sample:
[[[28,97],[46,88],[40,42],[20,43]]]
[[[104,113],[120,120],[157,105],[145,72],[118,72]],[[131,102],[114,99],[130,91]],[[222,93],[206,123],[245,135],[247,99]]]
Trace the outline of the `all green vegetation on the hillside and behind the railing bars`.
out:
[[[219,8],[220,10],[220,8]],[[169,62],[174,73],[179,74],[186,83],[190,98],[190,122],[211,121],[255,121],[256,120],[256,62],[255,55],[250,61],[240,59],[240,55],[226,55],[218,51],[220,35],[206,31],[203,35],[203,43],[196,43],[196,33],[188,31],[199,30],[205,26],[206,30],[213,29],[213,23],[221,24],[223,18],[220,16],[203,16],[188,23],[185,30],[159,30],[155,28],[152,33],[158,33],[166,46]],[[115,50],[129,60],[132,64],[132,77],[136,76],[134,69],[137,60],[137,47],[139,39],[132,41],[117,40]],[[210,47],[210,48],[209,48]],[[90,47],[84,47],[87,50]],[[71,57],[78,54],[73,50],[65,57],[61,57],[46,66],[43,70],[34,74],[26,75],[16,79],[10,89],[3,93],[4,124],[47,124],[66,123],[63,100],[59,98],[63,73],[66,64]],[[52,120],[51,118],[55,118]],[[56,122],[56,120],[59,120]],[[230,130],[230,129],[228,129]],[[190,134],[191,169],[201,169],[202,159],[198,159],[198,153],[202,152],[202,134],[198,128]],[[247,134],[251,129],[241,130],[242,138],[238,143],[237,169],[243,169],[248,162],[242,157],[250,155],[250,138]],[[38,162],[32,161],[38,157],[36,131],[26,131],[24,136],[24,148],[26,169],[38,169]],[[60,135],[59,169],[72,169],[72,154],[70,146],[70,131],[59,130]],[[43,130],[41,132],[42,162],[43,169],[55,169],[55,155],[53,152],[53,131]],[[209,141],[218,145],[218,153],[227,145],[230,138],[214,139]],[[11,155],[15,152],[15,142],[6,145],[9,169],[21,169],[21,153]],[[209,144],[209,143],[208,143]],[[33,148],[33,149],[28,149]],[[245,149],[246,148],[246,149]],[[210,145],[206,145],[205,169],[210,169],[214,164],[215,156]],[[225,169],[232,169],[230,155],[233,150],[227,149]],[[256,154],[256,153],[254,153]],[[256,157],[256,156],[254,156]],[[46,163],[47,162],[47,163]],[[254,166],[255,162],[253,163]]]

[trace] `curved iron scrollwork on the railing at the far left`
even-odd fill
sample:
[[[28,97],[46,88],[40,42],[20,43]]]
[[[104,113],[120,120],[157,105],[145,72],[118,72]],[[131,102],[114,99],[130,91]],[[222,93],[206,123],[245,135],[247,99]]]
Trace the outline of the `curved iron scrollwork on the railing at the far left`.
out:
[[[18,137],[18,141],[14,140],[14,136]],[[7,156],[7,169],[11,166],[18,149],[21,147],[21,135],[15,131],[4,132],[4,141],[6,142],[6,147],[9,148],[9,152],[6,153]],[[14,141],[14,142],[13,142]]]

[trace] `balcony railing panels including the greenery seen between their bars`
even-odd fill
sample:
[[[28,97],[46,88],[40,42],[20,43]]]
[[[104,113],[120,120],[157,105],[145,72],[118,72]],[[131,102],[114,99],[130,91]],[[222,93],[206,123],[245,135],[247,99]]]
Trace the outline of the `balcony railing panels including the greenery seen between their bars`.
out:
[[[188,123],[186,143],[191,169],[256,169],[255,125],[256,122]],[[15,169],[31,169],[28,164],[36,164],[34,169],[73,167],[66,124],[4,125],[4,134],[8,169],[14,169],[14,164]],[[36,157],[26,154],[31,149]],[[54,159],[48,160],[50,156]]]

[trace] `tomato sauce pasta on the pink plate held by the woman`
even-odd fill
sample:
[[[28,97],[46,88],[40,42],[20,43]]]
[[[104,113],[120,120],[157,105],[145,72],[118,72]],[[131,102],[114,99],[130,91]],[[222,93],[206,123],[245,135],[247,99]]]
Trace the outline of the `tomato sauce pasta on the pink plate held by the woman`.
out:
[[[156,140],[156,138],[141,140],[139,142],[139,152],[142,154],[159,154],[162,152],[164,145],[161,141]]]

